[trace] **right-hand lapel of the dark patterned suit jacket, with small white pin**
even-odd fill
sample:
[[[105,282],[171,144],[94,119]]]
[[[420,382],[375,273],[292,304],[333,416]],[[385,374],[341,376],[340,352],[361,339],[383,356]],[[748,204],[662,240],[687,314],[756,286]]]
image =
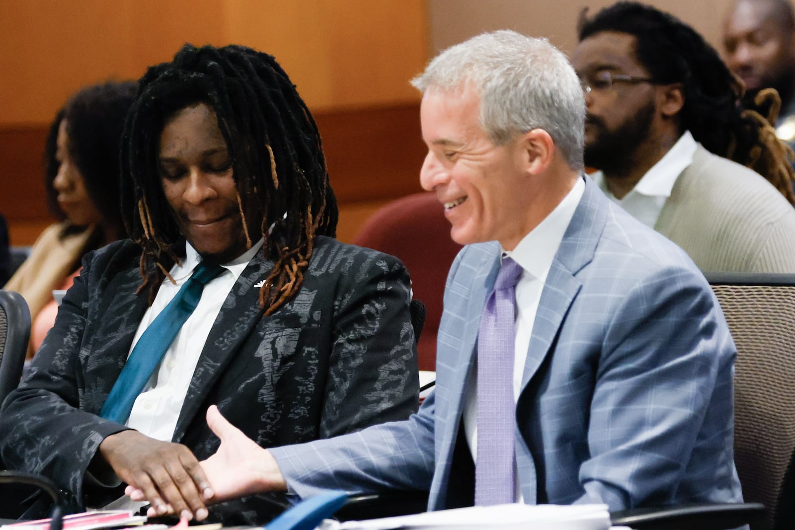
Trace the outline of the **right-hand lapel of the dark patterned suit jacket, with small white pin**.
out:
[[[182,439],[188,425],[210,393],[212,385],[262,318],[259,287],[255,284],[264,280],[272,268],[273,262],[266,260],[262,257],[262,253],[258,252],[224,300],[210,335],[207,336],[207,342],[204,343],[204,350],[196,363],[188,392],[185,394],[180,417],[174,429],[174,442]]]

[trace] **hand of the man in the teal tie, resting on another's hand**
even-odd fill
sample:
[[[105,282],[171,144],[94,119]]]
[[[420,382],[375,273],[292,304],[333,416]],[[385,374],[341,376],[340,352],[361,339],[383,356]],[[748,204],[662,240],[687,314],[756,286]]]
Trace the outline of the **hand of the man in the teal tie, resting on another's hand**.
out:
[[[116,476],[142,492],[152,507],[148,516],[178,513],[184,519],[207,517],[210,482],[192,452],[179,443],[161,442],[138,431],[122,431],[99,444],[95,470],[110,466]]]

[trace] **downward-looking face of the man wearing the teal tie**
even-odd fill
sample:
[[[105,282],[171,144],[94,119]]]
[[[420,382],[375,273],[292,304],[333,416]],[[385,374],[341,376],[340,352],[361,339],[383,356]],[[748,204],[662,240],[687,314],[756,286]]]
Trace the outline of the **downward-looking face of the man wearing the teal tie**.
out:
[[[227,263],[250,248],[227,142],[210,107],[185,107],[165,123],[158,163],[180,232],[202,257]]]

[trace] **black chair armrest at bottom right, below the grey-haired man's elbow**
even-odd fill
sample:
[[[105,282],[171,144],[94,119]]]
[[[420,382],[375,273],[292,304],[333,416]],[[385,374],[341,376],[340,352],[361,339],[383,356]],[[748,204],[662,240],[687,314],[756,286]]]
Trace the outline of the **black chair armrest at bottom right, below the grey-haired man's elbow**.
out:
[[[724,530],[753,523],[764,513],[758,502],[715,503],[622,510],[611,513],[610,520],[636,530]]]

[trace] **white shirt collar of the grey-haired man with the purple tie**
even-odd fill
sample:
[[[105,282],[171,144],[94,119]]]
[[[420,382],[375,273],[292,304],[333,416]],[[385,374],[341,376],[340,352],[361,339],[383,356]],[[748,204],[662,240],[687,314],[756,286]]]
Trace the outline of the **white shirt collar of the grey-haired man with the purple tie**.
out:
[[[514,250],[502,251],[503,257],[510,257],[522,265],[522,277],[530,274],[539,280],[546,280],[568,223],[572,221],[584,191],[585,181],[579,178],[555,209],[538,223],[538,226],[530,230]]]

